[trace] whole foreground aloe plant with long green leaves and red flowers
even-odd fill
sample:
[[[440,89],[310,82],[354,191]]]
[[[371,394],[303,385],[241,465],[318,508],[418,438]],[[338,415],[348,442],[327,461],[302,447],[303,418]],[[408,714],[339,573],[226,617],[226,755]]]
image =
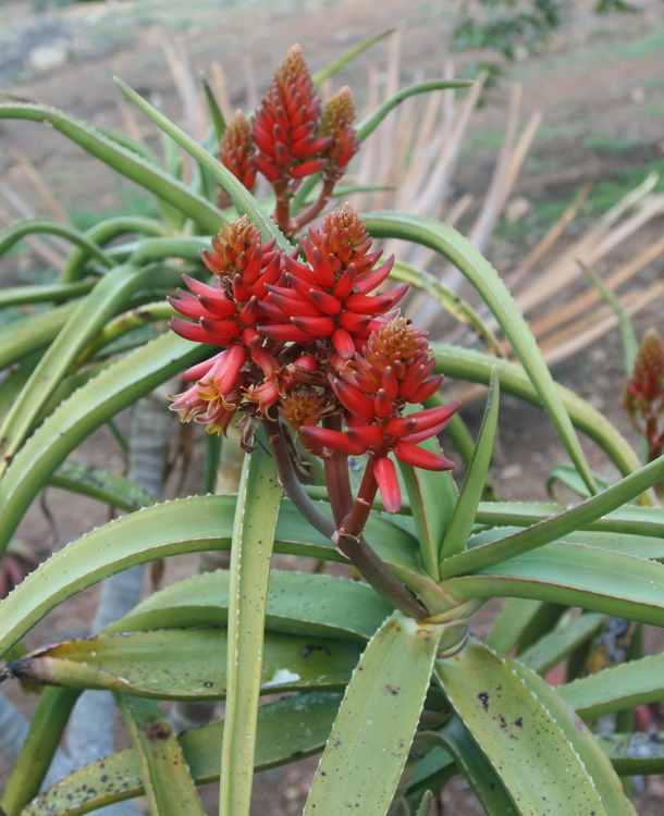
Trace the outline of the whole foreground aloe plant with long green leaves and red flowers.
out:
[[[85,233],[30,221],[0,236],[3,251],[37,232],[75,245],[57,283],[0,294],[4,307],[25,307],[0,345],[2,545],[49,483],[126,511],[0,602],[2,677],[45,687],[2,794],[8,816],[73,816],[144,793],[152,814],[204,813],[196,786],[212,780],[220,813],[242,816],[256,770],[316,753],[308,816],[426,814],[457,775],[496,816],[614,816],[635,813],[619,777],[661,769],[660,744],[635,742],[629,724],[608,735],[592,726],[664,698],[662,655],[630,655],[560,687],[543,676],[608,616],[664,623],[664,512],[651,490],[664,457],[641,466],[601,415],[554,382],[499,273],[451,226],[347,205],[310,226],[399,100],[466,85],[413,86],[356,126],[349,91],[321,106],[317,86],[361,48],[313,77],[293,49],[250,120],[226,126],[209,92],[204,144],[120,83],[165,135],[165,162],[61,111],[0,104],[0,118],[50,124],[155,194],[162,212]],[[195,162],[190,182],[176,146]],[[383,238],[453,263],[518,363],[430,345],[395,311],[406,289],[398,264],[373,249]],[[186,290],[172,295],[181,277]],[[397,285],[379,290],[390,277]],[[413,271],[408,283],[425,288]],[[44,301],[58,306],[29,312]],[[146,324],[156,335],[147,343]],[[457,406],[438,396],[443,374],[489,386],[475,441]],[[171,407],[208,431],[205,495],[158,502],[143,477],[67,461],[94,430],[176,376],[187,384]],[[578,487],[578,504],[483,500],[501,391],[548,411],[570,459],[558,478]],[[237,491],[209,493],[219,445],[208,440],[235,428],[246,452]],[[440,447],[443,428],[464,459],[460,485]],[[622,479],[591,471],[578,431]],[[149,595],[90,639],[23,646],[83,589],[206,551],[230,551],[230,568]],[[323,570],[278,569],[271,559],[282,553]],[[327,562],[352,565],[359,580],[324,574]],[[491,598],[507,601],[482,641],[474,616]],[[89,689],[114,695],[132,747],[42,789]],[[182,734],[160,705],[220,698],[223,720]]]

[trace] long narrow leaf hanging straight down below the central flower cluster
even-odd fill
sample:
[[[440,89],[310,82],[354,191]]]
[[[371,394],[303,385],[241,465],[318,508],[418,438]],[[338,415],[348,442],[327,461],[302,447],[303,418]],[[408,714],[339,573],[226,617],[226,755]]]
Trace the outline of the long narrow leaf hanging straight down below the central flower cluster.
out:
[[[220,814],[248,816],[251,806],[261,671],[268,665],[267,644],[263,664],[268,581],[281,496],[274,457],[261,444],[245,456],[233,517]],[[292,679],[299,673],[280,664],[274,677],[282,670]]]

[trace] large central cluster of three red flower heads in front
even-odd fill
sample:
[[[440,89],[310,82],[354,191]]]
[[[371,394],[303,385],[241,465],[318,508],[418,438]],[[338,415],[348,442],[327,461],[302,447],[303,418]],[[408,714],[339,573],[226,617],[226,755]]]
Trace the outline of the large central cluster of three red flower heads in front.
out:
[[[394,310],[407,287],[372,294],[393,259],[377,265],[380,252],[351,207],[310,230],[300,251],[298,258],[262,244],[246,217],[214,237],[202,256],[213,283],[185,276],[187,290],[171,298],[182,317],[171,325],[222,350],[185,372],[193,385],[172,409],[210,433],[224,433],[239,411],[247,440],[253,420],[279,423],[281,417],[324,459],[367,454],[373,487],[365,499],[380,490],[385,508],[396,511],[391,454],[420,468],[452,468],[418,443],[440,433],[456,406],[404,416],[408,405],[431,397],[442,378],[433,373],[426,334]]]

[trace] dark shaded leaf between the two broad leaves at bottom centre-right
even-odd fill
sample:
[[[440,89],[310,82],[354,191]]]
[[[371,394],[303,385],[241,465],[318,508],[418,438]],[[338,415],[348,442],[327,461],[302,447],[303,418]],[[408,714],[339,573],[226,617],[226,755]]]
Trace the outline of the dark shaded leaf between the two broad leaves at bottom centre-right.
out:
[[[500,776],[458,717],[453,717],[442,729],[440,739],[455,758],[488,816],[519,816]]]

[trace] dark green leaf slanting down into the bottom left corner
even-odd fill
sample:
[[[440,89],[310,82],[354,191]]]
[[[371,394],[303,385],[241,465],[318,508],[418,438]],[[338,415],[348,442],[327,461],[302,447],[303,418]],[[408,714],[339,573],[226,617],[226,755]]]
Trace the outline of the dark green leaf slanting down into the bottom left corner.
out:
[[[29,729],[2,791],[0,808],[7,816],[19,816],[38,793],[60,745],[78,692],[73,689],[44,689],[30,719]]]

